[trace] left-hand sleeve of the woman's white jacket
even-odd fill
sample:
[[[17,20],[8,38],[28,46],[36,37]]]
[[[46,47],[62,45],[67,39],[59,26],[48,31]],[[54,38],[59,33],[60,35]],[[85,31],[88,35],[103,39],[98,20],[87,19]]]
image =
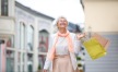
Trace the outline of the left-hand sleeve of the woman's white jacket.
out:
[[[49,36],[49,45],[48,45],[48,52],[47,52],[47,55],[49,53],[51,47],[52,47],[52,35]],[[46,57],[44,69],[48,70],[49,67],[51,65],[51,63],[52,62],[48,59],[48,57]]]

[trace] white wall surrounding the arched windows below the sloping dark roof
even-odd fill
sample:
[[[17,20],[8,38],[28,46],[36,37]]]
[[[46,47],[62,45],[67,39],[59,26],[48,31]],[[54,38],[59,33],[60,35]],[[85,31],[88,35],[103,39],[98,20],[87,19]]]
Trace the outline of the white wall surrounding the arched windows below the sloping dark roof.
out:
[[[37,48],[38,48],[38,33],[42,29],[46,29],[49,34],[51,33],[51,20],[48,20],[47,17],[44,16],[38,16],[38,15],[34,15],[31,14],[28,11],[24,11],[23,9],[15,7],[15,20],[16,20],[16,28],[15,29],[20,29],[20,22],[24,22],[24,24],[26,26],[32,25],[34,27],[34,47],[33,47],[33,51],[30,51],[33,53],[33,71],[37,71],[37,67],[38,67],[38,55],[45,55],[45,52],[38,52]],[[16,40],[19,41],[19,32],[16,31]],[[27,35],[27,34],[26,34]],[[26,39],[25,39],[25,43]],[[26,44],[25,44],[26,45]],[[19,44],[16,44],[16,48],[19,47]],[[26,47],[26,46],[25,46]],[[19,50],[17,51],[26,51],[26,50]],[[28,52],[28,51],[27,51]],[[21,57],[22,58],[22,57]],[[22,59],[21,59],[22,60]],[[17,61],[17,59],[16,59]],[[27,59],[25,58],[25,71],[27,71]],[[17,67],[16,67],[16,71],[17,71]],[[23,68],[21,68],[21,71],[23,70]]]

